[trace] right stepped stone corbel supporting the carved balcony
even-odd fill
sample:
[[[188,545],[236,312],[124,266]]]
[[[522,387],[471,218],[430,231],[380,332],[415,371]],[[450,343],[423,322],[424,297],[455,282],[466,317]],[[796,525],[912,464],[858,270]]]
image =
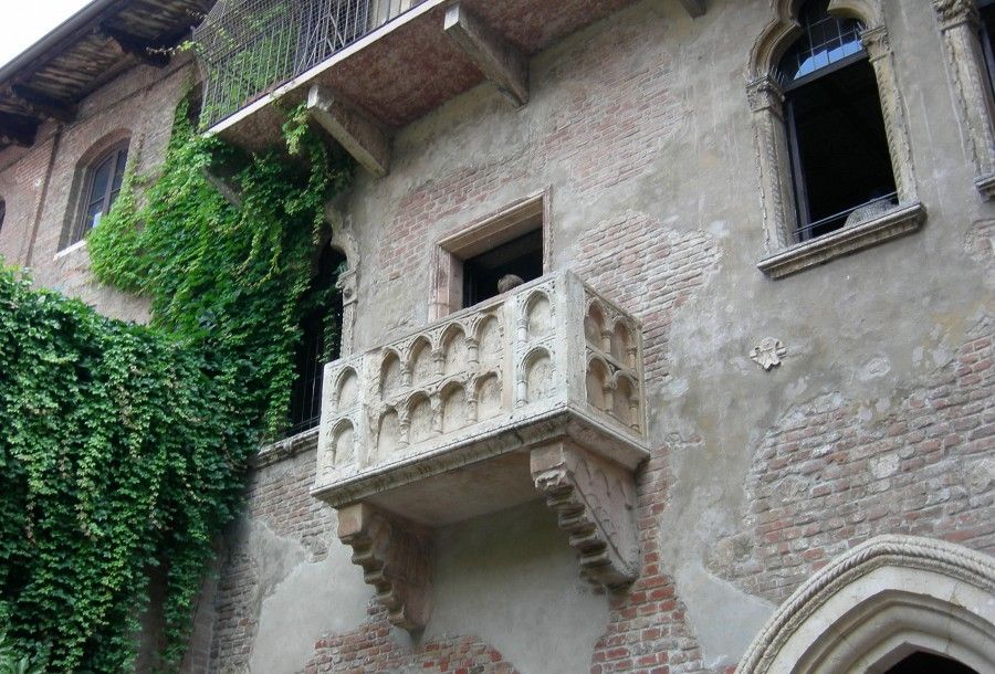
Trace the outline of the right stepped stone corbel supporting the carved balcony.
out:
[[[532,478],[569,535],[580,575],[608,589],[639,573],[632,473],[569,442],[532,450]]]

